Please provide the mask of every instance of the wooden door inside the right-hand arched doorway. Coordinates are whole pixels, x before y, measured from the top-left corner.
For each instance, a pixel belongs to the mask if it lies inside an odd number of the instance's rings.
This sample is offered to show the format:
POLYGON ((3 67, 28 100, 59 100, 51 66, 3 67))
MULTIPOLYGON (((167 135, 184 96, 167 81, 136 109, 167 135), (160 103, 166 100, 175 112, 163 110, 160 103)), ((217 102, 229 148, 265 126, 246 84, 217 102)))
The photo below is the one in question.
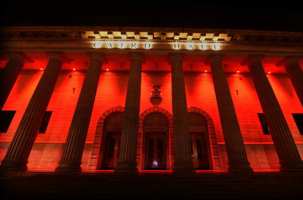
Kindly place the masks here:
POLYGON ((194 166, 199 169, 208 169, 208 157, 204 133, 191 133, 191 158, 194 166))

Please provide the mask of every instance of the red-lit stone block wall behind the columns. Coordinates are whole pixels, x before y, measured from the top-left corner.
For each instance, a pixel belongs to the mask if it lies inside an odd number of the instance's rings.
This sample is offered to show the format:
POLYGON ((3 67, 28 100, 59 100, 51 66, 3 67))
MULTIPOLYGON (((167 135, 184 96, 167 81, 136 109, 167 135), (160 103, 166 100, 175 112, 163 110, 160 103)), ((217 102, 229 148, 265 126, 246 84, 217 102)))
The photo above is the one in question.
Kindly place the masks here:
MULTIPOLYGON (((42 71, 22 71, 3 110, 16 110, 7 133, 0 133, 0 159, 2 160, 9 143, 25 112, 26 106, 42 75, 42 71)), ((64 148, 73 112, 84 80, 84 71, 61 71, 47 110, 53 111, 46 133, 38 133, 35 145, 28 159, 29 168, 55 169, 64 148), (71 78, 68 76, 72 75, 71 78), (73 92, 75 88, 75 92, 73 92)), ((302 106, 288 79, 287 74, 268 74, 282 111, 303 155, 303 136, 298 132, 291 113, 303 113, 302 106)), ((257 116, 262 112, 250 74, 227 74, 231 96, 235 105, 248 159, 253 169, 278 168, 278 157, 271 136, 264 135, 257 116), (236 92, 238 90, 238 94, 236 92)), ((88 168, 96 125, 101 114, 114 106, 125 104, 128 72, 102 71, 92 118, 87 134, 82 168, 88 168)), ((163 90, 159 106, 172 113, 170 72, 142 72, 140 113, 153 105, 149 90, 158 85, 163 90)), ((220 125, 214 86, 210 73, 185 73, 187 105, 204 109, 213 119, 219 145, 221 169, 227 167, 227 155, 220 125)))

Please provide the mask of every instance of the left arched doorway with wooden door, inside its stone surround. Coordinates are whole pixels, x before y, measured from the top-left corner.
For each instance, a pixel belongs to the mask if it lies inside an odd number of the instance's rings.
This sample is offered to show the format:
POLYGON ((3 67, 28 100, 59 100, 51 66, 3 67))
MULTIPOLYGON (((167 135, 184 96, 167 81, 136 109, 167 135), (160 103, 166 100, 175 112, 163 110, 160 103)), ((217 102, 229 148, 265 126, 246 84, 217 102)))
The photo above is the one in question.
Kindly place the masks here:
POLYGON ((123 112, 112 112, 103 124, 97 169, 114 169, 119 158, 123 112))

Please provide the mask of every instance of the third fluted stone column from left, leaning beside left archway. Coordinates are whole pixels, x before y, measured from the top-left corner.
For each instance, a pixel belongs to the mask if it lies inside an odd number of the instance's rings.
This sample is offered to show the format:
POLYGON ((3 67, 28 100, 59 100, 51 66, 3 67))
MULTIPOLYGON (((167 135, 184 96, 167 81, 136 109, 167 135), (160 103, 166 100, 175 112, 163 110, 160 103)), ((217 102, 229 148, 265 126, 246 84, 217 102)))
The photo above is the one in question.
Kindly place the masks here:
POLYGON ((80 172, 82 154, 95 102, 101 67, 107 63, 102 54, 92 54, 68 131, 62 158, 55 172, 80 172))

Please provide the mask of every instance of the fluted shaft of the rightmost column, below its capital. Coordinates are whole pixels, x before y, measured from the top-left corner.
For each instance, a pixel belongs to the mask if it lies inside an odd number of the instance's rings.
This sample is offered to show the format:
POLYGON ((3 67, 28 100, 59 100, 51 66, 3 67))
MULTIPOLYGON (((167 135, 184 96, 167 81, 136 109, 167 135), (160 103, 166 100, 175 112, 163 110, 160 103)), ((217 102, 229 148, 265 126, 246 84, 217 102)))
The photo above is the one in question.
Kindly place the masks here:
POLYGON ((298 60, 288 62, 285 65, 285 70, 298 95, 301 105, 303 106, 303 71, 298 63, 298 60))

